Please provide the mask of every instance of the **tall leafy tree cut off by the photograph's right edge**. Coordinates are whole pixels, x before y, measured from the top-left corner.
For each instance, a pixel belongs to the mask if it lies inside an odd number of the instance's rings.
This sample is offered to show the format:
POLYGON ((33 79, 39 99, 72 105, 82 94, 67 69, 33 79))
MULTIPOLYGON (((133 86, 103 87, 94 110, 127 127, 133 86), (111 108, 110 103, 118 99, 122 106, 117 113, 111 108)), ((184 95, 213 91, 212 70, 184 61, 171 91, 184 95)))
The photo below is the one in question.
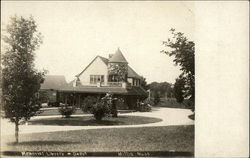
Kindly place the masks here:
POLYGON ((194 110, 194 98, 195 98, 195 69, 194 69, 194 55, 195 44, 193 41, 187 39, 181 32, 175 32, 175 29, 170 30, 173 37, 167 41, 163 41, 163 44, 170 48, 170 50, 162 50, 161 52, 174 57, 174 63, 179 65, 182 70, 180 78, 185 81, 185 89, 183 92, 184 98, 189 98, 193 103, 192 109, 194 110))

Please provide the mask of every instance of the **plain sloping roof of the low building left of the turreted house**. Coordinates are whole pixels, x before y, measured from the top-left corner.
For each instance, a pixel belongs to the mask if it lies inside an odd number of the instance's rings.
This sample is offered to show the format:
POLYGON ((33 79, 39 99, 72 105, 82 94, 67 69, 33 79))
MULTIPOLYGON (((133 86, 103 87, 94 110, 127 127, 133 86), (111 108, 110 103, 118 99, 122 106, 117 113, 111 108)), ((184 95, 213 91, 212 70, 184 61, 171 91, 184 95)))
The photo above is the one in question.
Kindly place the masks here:
POLYGON ((59 90, 67 86, 66 79, 63 75, 46 75, 44 82, 41 84, 41 90, 54 89, 59 90))

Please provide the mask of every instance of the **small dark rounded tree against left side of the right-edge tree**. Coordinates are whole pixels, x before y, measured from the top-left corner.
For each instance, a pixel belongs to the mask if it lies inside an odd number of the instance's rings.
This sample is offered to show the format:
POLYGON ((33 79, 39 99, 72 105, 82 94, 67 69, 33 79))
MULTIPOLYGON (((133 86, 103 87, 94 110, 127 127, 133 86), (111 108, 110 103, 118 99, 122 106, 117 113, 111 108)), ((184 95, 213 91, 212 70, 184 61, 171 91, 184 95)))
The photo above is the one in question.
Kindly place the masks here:
POLYGON ((184 78, 182 77, 177 78, 174 84, 174 96, 178 103, 182 103, 184 100, 183 97, 184 86, 185 86, 184 78))

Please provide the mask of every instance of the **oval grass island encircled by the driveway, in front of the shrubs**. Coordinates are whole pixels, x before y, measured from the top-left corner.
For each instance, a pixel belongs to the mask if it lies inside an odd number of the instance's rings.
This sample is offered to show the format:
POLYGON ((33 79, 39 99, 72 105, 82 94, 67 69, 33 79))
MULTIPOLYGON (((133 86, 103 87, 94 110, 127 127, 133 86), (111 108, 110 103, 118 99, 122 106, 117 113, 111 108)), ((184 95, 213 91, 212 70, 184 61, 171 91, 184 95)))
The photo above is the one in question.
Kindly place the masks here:
POLYGON ((31 125, 59 125, 59 126, 106 126, 106 125, 136 125, 160 122, 161 119, 142 116, 118 116, 104 117, 97 121, 93 116, 81 116, 71 118, 46 118, 29 121, 31 125))

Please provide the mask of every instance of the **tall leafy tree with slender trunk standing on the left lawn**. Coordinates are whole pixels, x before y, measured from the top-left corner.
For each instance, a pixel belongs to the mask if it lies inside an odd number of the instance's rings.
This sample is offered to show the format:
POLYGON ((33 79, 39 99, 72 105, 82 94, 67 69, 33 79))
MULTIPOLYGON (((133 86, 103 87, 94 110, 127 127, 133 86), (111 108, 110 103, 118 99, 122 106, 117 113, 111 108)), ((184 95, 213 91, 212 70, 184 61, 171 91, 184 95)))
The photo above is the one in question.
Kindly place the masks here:
POLYGON ((34 51, 42 43, 41 34, 33 17, 11 17, 3 41, 6 44, 2 58, 3 109, 5 117, 15 123, 18 143, 19 123, 39 112, 38 99, 44 73, 34 68, 34 51))

